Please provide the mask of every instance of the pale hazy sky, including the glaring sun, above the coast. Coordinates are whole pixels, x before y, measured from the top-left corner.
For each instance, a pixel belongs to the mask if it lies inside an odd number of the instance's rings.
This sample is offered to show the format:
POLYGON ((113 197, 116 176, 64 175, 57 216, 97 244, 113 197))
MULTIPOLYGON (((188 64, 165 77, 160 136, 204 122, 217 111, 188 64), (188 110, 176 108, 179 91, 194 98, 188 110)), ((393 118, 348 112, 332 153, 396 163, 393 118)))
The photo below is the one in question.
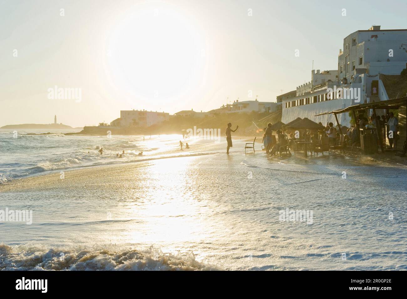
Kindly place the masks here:
POLYGON ((350 33, 406 29, 406 11, 404 0, 0 0, 0 126, 275 102, 312 66, 336 70, 350 33))

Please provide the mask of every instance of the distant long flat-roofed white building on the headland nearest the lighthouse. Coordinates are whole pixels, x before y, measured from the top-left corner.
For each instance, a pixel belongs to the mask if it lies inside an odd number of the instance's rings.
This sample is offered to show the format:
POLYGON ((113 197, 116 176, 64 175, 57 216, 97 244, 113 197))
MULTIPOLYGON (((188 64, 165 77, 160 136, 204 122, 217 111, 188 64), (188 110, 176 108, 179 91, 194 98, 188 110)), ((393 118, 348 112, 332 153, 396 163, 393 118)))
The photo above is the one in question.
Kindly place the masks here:
POLYGON ((169 113, 147 110, 120 110, 120 118, 110 124, 114 127, 150 127, 169 119, 169 113))

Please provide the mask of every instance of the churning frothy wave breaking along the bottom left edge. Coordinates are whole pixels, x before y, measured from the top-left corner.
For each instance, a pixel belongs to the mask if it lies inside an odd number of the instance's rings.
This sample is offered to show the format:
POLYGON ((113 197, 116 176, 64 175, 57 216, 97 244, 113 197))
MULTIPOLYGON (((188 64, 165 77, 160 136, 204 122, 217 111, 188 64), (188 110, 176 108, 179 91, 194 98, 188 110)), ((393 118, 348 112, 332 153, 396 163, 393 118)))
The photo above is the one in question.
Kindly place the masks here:
POLYGON ((195 260, 193 253, 136 249, 39 248, 0 244, 0 270, 17 271, 208 271, 221 270, 195 260))

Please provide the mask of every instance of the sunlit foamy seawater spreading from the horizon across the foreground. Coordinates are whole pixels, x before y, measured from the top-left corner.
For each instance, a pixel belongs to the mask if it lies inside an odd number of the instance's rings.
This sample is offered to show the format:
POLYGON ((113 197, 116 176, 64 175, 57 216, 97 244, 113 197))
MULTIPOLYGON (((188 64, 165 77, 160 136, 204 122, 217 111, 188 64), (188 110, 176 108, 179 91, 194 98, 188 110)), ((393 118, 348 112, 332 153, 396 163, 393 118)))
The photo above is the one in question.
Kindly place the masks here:
POLYGON ((400 157, 43 133, 0 130, 1 270, 407 269, 400 157), (60 183, 5 188, 30 177, 60 183), (32 223, 2 220, 6 209, 32 223))

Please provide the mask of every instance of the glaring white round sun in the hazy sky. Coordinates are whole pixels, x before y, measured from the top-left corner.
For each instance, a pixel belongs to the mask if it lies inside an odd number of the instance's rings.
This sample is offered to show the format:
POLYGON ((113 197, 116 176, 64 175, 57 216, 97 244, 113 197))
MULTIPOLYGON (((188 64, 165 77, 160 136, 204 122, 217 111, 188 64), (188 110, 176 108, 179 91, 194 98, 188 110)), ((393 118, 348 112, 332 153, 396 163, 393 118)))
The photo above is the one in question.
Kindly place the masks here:
POLYGON ((193 15, 170 4, 142 4, 118 21, 107 65, 114 85, 142 100, 169 104, 197 88, 206 63, 193 15))

